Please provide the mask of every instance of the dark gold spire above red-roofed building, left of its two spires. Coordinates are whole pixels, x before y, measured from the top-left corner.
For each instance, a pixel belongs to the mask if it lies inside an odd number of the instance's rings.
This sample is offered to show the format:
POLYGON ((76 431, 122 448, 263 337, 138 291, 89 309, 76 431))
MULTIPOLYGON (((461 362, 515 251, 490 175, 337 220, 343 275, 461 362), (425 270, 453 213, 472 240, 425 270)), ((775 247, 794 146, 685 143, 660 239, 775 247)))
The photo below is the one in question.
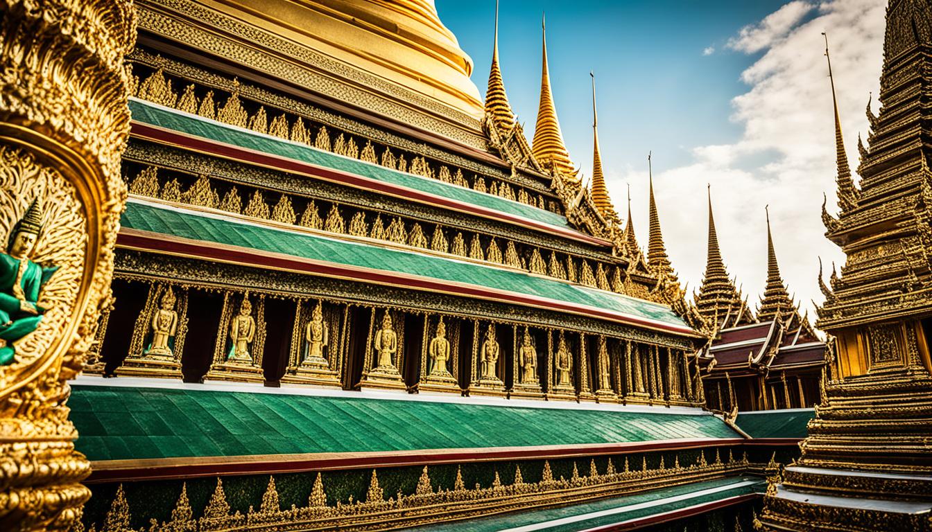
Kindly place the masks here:
POLYGON ((702 280, 699 293, 695 295, 695 304, 699 313, 715 329, 725 329, 747 323, 753 323, 747 303, 734 287, 725 270, 725 263, 719 251, 719 236, 715 232, 715 218, 712 216, 712 193, 708 196, 708 254, 706 255, 706 274, 702 280))

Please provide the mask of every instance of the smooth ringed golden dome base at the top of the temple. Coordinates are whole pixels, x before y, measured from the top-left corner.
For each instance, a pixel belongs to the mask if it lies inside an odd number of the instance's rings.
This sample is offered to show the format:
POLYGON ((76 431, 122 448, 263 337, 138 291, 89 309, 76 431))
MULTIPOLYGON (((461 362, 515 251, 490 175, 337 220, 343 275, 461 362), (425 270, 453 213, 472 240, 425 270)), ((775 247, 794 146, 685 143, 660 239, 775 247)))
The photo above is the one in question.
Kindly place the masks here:
POLYGON ((469 78, 473 60, 440 21, 433 0, 216 1, 227 14, 234 7, 239 18, 337 61, 474 118, 484 115, 469 78))

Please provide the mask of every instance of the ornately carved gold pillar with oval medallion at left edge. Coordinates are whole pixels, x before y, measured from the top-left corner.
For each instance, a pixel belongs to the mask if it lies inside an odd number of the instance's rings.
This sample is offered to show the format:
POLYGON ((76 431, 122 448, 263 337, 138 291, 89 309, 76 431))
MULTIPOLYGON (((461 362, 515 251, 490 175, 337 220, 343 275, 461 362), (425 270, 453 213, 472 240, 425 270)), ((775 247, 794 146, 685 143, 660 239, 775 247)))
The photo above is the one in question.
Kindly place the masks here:
POLYGON ((0 348, 3 530, 68 529, 90 496, 66 381, 110 303, 135 35, 126 0, 0 4, 0 239, 31 235, 3 252, 42 274, 37 295, 7 293, 31 312, 0 348))

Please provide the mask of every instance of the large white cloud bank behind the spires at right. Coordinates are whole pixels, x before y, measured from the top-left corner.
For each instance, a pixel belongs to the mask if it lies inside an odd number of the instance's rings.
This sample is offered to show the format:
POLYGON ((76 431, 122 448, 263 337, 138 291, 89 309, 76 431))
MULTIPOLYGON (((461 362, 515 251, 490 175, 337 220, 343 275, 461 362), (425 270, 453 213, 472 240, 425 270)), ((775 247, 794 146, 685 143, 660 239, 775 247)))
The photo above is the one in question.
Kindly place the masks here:
MULTIPOLYGON (((801 3, 781 7, 755 28, 776 28, 774 16, 797 4, 801 3)), ((769 43, 766 51, 742 75, 747 92, 733 99, 732 119, 743 125, 742 137, 732 144, 696 146, 692 164, 671 170, 661 170, 663 156, 654 154, 654 193, 667 251, 691 292, 698 288, 706 266, 709 183, 721 251, 748 301, 757 304, 766 280, 764 205, 768 204, 780 272, 790 293, 803 307, 811 308, 811 299, 821 301, 817 257, 827 268, 832 261, 843 264, 843 253, 823 236, 820 217, 823 191, 829 195, 829 206, 834 206, 836 174, 821 32, 829 34, 845 146, 856 168, 857 133, 868 128, 864 105, 869 91, 878 93, 885 6, 884 0, 835 0, 819 6, 816 18, 804 23, 799 15, 781 15, 781 20, 795 23, 772 31, 771 35, 780 35, 777 38, 761 37, 759 42, 769 43)), ((742 30, 738 38, 749 43, 752 33, 742 30)), ((743 46, 748 52, 756 49, 743 46)), ((610 173, 613 197, 624 198, 625 181, 646 183, 647 172, 640 170, 642 165, 637 168, 621 172, 617 179, 610 173)), ((635 206, 647 205, 646 189, 643 185, 633 189, 635 206)), ((638 237, 646 247, 647 213, 636 209, 636 215, 638 237)))

